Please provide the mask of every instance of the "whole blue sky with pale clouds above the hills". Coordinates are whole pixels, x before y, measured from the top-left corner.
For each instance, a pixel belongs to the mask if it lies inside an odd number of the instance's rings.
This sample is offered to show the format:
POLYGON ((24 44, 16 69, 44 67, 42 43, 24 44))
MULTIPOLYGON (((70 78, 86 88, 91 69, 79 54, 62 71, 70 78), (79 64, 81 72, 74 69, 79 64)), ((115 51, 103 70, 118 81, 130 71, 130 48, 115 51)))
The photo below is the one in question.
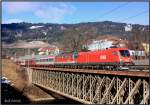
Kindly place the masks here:
POLYGON ((148 2, 2 2, 2 23, 149 24, 148 2))

